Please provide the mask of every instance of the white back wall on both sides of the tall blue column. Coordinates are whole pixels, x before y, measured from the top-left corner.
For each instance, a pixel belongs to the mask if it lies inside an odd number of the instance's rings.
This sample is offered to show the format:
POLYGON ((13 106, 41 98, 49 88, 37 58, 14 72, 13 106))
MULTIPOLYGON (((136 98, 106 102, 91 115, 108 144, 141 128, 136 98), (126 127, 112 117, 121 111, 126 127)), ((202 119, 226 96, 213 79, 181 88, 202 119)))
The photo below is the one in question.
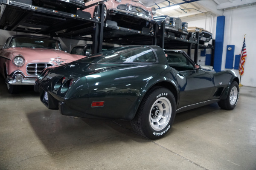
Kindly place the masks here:
MULTIPOLYGON (((221 70, 227 70, 225 69, 227 45, 235 45, 235 55, 239 55, 244 34, 246 34, 247 57, 244 64, 244 74, 241 76, 241 84, 256 87, 256 76, 254 75, 256 73, 256 5, 227 9, 223 11, 223 15, 225 16, 225 31, 221 70)), ((197 26, 212 31, 214 39, 216 19, 217 16, 212 17, 210 14, 181 18, 182 22, 187 22, 189 26, 197 26)), ((207 50, 207 54, 210 54, 209 50, 207 50)), ((198 62, 199 64, 204 65, 204 57, 198 57, 198 60, 201 60, 198 62)), ((239 71, 234 71, 239 76, 239 71)))

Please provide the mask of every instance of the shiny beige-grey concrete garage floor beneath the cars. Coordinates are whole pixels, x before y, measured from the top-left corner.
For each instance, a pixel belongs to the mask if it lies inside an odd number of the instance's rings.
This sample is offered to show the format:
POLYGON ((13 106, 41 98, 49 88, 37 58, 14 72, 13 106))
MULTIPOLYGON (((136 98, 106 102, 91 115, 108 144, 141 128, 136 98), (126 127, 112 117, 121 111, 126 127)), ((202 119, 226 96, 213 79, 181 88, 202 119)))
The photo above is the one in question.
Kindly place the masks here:
POLYGON ((217 104, 176 115, 158 140, 130 122, 74 119, 48 110, 38 93, 7 93, 0 77, 0 170, 256 170, 256 88, 237 107, 217 104))

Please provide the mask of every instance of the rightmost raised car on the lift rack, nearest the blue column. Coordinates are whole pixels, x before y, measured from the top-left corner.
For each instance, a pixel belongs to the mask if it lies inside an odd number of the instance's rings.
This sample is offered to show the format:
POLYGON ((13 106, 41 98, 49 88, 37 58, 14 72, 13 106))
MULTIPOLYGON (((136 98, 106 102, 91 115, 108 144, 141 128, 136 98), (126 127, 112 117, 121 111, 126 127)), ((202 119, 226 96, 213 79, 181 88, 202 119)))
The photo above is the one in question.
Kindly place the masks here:
POLYGON ((204 28, 188 27, 188 32, 191 33, 192 38, 196 38, 196 32, 199 33, 199 44, 204 45, 205 42, 212 40, 212 33, 205 30, 204 28))

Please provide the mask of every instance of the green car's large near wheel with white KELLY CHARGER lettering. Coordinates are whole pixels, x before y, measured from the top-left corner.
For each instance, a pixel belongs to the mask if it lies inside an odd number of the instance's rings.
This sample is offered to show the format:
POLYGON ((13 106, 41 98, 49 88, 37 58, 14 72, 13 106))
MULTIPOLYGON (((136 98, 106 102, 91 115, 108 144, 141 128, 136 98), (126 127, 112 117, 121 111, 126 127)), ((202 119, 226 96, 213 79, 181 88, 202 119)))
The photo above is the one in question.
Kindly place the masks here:
POLYGON ((131 126, 136 133, 148 139, 159 139, 172 127, 175 111, 172 92, 166 88, 155 87, 145 95, 131 126))

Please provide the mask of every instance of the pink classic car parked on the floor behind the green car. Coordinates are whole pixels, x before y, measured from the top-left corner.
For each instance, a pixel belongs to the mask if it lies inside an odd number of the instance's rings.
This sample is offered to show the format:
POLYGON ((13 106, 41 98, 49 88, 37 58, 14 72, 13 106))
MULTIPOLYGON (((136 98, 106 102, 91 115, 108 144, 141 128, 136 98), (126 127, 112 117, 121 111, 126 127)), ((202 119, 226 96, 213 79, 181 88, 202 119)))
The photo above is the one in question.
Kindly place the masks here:
POLYGON ((34 85, 35 78, 44 68, 84 57, 61 50, 60 42, 52 38, 29 35, 9 37, 0 51, 0 73, 9 93, 17 93, 19 85, 34 85))

